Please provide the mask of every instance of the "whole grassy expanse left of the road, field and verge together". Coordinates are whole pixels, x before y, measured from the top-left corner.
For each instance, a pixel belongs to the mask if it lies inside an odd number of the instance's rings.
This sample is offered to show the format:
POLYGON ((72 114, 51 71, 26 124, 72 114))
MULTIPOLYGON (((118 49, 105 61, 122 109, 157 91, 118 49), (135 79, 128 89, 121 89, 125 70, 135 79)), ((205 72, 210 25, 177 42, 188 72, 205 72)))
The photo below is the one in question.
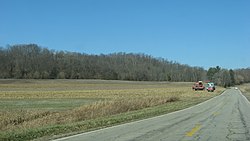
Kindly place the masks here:
POLYGON ((192 83, 0 80, 0 140, 49 140, 187 108, 222 93, 192 83))

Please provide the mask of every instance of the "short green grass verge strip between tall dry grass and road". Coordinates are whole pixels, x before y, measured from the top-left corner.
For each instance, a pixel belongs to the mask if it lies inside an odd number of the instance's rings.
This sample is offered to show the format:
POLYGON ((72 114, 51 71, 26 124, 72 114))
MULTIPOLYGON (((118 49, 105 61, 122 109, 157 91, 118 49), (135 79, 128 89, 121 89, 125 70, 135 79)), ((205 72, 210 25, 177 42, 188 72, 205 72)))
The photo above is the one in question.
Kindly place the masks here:
POLYGON ((137 111, 130 111, 126 113, 105 116, 96 119, 89 119, 85 121, 68 123, 65 125, 54 125, 42 128, 32 128, 19 132, 0 133, 0 140, 6 141, 23 141, 23 140, 50 140, 52 138, 59 138, 63 136, 78 134, 86 131, 110 127, 121 123, 131 122, 135 120, 145 119, 161 114, 170 113, 173 111, 181 110, 193 105, 196 105, 203 100, 192 102, 176 101, 166 103, 160 106, 149 107, 137 111))

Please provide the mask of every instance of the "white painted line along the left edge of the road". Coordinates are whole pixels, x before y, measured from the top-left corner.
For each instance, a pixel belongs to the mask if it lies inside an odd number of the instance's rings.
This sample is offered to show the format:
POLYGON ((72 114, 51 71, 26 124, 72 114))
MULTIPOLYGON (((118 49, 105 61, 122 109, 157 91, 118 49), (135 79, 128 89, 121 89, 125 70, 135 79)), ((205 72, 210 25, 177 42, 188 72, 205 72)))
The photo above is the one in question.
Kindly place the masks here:
MULTIPOLYGON (((226 91, 226 90, 225 90, 226 91)), ((200 106, 200 105, 203 105, 217 97, 220 97, 222 95, 225 94, 225 91, 222 92, 222 94, 218 95, 218 96, 215 96, 211 99, 208 99, 202 103, 199 103, 197 105, 194 105, 192 107, 188 107, 188 108, 185 108, 185 109, 182 109, 182 110, 179 110, 179 111, 174 111, 174 112, 171 112, 171 113, 168 113, 168 114, 164 114, 164 115, 160 115, 160 116, 156 116, 156 117, 151 117, 151 118, 147 118, 147 119, 142 119, 142 120, 138 120, 138 121, 133 121, 133 122, 128 122, 128 123, 124 123, 124 124, 119 124, 119 125, 115 125, 115 126, 111 126, 111 127, 106 127, 106 128, 102 128, 102 129, 98 129, 98 130, 93 130, 93 131, 89 131, 89 132, 84 132, 84 133, 80 133, 80 134, 76 134, 76 135, 72 135, 72 136, 68 136, 68 137, 63 137, 63 138, 59 138, 59 139, 55 139, 55 140, 52 140, 52 141, 62 141, 62 140, 66 140, 66 139, 69 139, 69 138, 73 138, 73 137, 78 137, 78 136, 81 136, 81 135, 84 135, 84 134, 91 134, 91 133, 94 133, 94 132, 99 132, 99 131, 102 131, 102 130, 106 130, 106 129, 112 129, 112 128, 116 128, 116 127, 119 127, 119 126, 123 126, 123 125, 127 125, 127 124, 133 124, 133 123, 138 123, 138 122, 142 122, 142 121, 146 121, 146 120, 151 120, 151 119, 154 119, 154 118, 159 118, 159 117, 163 117, 163 116, 166 116, 166 115, 172 115, 172 114, 175 114, 175 113, 179 113, 179 112, 183 112, 183 111, 186 111, 186 110, 189 110, 189 109, 192 109, 194 107, 197 107, 197 106, 200 106)), ((245 97, 245 96, 244 96, 245 97)), ((246 97, 245 97, 246 98, 246 97)), ((248 101, 249 102, 249 101, 248 101)))

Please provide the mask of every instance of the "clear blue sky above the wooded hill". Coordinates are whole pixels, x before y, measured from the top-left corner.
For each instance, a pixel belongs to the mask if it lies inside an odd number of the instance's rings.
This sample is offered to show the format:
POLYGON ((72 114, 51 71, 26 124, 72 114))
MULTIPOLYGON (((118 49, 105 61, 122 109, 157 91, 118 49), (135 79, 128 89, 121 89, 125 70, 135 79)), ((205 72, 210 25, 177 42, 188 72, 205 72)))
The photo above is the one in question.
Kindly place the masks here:
POLYGON ((0 0, 0 46, 250 67, 250 0, 0 0))

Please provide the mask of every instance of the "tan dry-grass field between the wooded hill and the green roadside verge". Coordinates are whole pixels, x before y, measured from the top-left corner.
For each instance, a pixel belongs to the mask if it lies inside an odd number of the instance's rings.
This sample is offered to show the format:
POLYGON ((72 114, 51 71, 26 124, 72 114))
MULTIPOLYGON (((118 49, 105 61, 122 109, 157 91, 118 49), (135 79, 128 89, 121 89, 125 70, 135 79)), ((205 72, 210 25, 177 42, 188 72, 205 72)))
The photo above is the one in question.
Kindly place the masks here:
POLYGON ((223 91, 196 92, 191 86, 168 82, 0 80, 0 131, 64 125, 176 101, 197 103, 223 91))

